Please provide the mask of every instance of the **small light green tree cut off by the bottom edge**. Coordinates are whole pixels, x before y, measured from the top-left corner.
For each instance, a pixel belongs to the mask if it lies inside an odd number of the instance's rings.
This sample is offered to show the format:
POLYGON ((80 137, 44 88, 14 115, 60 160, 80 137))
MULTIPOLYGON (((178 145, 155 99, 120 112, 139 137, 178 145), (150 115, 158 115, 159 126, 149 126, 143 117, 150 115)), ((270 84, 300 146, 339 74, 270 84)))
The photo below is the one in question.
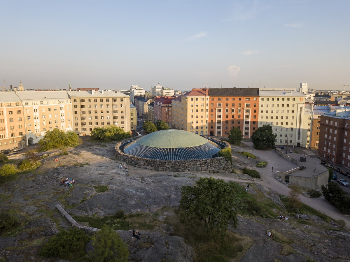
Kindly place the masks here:
POLYGON ((93 261, 127 262, 129 250, 126 243, 109 226, 102 226, 93 236, 93 251, 89 254, 93 261))

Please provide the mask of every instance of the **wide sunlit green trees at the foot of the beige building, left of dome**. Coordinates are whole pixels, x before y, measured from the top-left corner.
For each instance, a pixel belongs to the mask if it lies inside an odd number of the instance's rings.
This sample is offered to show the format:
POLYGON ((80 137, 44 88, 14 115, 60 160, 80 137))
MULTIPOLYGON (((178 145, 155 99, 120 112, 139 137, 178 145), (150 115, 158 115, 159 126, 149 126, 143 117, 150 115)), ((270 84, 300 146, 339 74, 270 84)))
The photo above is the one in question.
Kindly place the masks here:
POLYGON ((91 131, 91 138, 97 140, 108 141, 121 141, 131 137, 130 131, 125 132, 122 128, 118 126, 110 127, 95 127, 91 131))

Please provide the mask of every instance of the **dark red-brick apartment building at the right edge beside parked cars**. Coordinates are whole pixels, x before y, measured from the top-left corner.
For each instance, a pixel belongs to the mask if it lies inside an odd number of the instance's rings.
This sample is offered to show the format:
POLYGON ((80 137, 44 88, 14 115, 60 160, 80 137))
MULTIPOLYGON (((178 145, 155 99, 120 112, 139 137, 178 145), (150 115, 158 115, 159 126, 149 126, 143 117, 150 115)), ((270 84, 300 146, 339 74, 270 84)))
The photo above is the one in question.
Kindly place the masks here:
POLYGON ((320 119, 318 156, 350 168, 350 110, 337 109, 320 119))

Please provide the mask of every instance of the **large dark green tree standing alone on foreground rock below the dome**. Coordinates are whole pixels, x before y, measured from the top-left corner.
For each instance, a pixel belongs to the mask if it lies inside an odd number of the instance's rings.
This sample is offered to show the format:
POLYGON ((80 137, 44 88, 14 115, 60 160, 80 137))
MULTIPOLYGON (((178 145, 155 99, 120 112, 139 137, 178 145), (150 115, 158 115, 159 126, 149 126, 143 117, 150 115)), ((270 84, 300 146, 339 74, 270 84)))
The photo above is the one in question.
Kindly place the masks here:
POLYGON ((229 225, 237 227, 234 189, 233 184, 212 177, 200 178, 195 186, 182 186, 179 206, 182 220, 194 225, 201 221, 210 239, 223 239, 229 225))

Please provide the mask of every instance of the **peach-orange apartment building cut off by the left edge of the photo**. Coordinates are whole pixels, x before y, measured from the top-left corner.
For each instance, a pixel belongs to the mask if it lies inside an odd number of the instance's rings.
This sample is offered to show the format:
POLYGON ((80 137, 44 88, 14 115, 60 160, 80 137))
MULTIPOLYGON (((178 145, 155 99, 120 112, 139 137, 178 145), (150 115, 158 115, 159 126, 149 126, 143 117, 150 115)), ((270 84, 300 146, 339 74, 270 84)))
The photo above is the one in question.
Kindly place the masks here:
POLYGON ((0 150, 26 146, 22 101, 15 92, 0 92, 0 150))

